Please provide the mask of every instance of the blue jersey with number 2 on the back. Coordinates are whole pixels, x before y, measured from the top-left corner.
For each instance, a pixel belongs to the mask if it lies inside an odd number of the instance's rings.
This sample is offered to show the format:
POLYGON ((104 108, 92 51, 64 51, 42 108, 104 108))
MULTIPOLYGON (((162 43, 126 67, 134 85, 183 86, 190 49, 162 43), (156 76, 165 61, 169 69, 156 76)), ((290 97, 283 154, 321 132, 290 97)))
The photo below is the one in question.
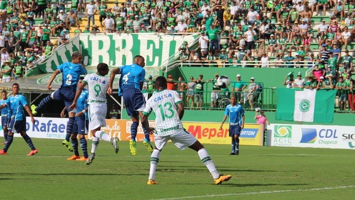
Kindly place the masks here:
POLYGON ((63 73, 63 81, 61 87, 77 88, 80 75, 87 73, 86 69, 81 64, 63 63, 57 67, 63 73))

